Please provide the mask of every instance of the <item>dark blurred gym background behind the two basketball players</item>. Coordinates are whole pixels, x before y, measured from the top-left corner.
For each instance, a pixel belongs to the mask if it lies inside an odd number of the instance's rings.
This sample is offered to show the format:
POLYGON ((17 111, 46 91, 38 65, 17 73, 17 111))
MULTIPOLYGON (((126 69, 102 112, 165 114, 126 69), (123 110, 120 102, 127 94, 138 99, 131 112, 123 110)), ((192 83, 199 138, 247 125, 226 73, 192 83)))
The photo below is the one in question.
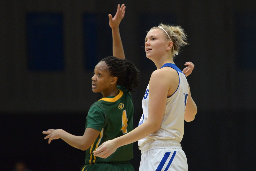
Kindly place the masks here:
MULTIPOLYGON (((160 22, 181 25, 190 45, 175 63, 181 69, 186 61, 195 64, 188 81, 198 107, 181 142, 189 170, 255 170, 256 6, 238 0, 0 1, 0 170, 18 161, 31 170, 81 169, 83 151, 61 140, 49 145, 41 132, 83 134, 88 109, 101 98, 91 91, 91 68, 112 55, 108 14, 122 3, 125 55, 141 70, 140 89, 132 94, 134 126, 156 69, 145 57, 146 31, 160 22), (40 24, 49 27, 37 30, 40 24), (54 48, 37 49, 48 45, 54 48)), ((140 155, 134 143, 135 170, 140 155)))

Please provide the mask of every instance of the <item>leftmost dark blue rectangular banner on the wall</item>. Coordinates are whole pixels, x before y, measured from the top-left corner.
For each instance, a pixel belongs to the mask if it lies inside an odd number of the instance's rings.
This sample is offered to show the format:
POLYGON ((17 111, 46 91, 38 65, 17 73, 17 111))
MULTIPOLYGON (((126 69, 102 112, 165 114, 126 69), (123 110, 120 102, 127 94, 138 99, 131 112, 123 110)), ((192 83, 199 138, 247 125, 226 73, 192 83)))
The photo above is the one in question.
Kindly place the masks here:
POLYGON ((62 14, 27 14, 27 50, 30 70, 64 69, 62 14))

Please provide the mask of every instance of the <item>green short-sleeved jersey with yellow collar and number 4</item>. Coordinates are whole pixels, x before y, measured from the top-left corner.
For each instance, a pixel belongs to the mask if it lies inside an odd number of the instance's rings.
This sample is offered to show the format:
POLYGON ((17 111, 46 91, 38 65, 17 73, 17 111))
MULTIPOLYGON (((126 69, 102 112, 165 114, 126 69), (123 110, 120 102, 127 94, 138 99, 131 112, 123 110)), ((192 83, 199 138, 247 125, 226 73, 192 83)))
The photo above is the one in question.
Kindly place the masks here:
POLYGON ((133 130, 134 107, 130 92, 118 86, 119 94, 115 97, 102 98, 92 104, 89 109, 86 128, 90 127, 100 131, 99 136, 89 149, 86 150, 85 164, 99 162, 122 163, 133 158, 133 144, 119 147, 107 158, 95 157, 93 151, 103 142, 133 130))

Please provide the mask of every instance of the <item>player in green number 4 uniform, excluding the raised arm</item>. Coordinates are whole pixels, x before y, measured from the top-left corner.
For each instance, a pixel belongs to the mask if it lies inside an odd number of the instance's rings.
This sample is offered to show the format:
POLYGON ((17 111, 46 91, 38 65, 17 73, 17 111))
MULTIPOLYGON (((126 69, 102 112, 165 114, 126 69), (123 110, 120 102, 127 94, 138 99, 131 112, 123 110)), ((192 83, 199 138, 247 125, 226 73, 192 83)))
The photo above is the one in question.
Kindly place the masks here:
POLYGON ((45 139, 61 138, 69 145, 86 150, 82 171, 89 170, 134 170, 129 160, 133 157, 132 144, 118 148, 110 157, 95 157, 95 151, 103 142, 122 136, 133 130, 134 107, 130 91, 138 88, 140 73, 127 59, 106 57, 94 69, 92 91, 101 92, 103 98, 93 103, 86 119, 82 136, 72 135, 62 129, 43 131, 45 139))

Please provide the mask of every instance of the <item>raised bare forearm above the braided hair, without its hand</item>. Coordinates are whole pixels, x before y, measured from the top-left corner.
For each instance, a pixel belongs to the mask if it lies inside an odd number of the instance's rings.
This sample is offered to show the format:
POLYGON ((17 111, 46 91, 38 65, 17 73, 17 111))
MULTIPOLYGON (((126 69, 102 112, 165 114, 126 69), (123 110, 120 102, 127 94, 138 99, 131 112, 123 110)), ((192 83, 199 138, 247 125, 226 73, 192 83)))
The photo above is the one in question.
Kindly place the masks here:
POLYGON ((112 28, 112 39, 113 39, 113 56, 119 59, 125 59, 119 28, 112 28))

